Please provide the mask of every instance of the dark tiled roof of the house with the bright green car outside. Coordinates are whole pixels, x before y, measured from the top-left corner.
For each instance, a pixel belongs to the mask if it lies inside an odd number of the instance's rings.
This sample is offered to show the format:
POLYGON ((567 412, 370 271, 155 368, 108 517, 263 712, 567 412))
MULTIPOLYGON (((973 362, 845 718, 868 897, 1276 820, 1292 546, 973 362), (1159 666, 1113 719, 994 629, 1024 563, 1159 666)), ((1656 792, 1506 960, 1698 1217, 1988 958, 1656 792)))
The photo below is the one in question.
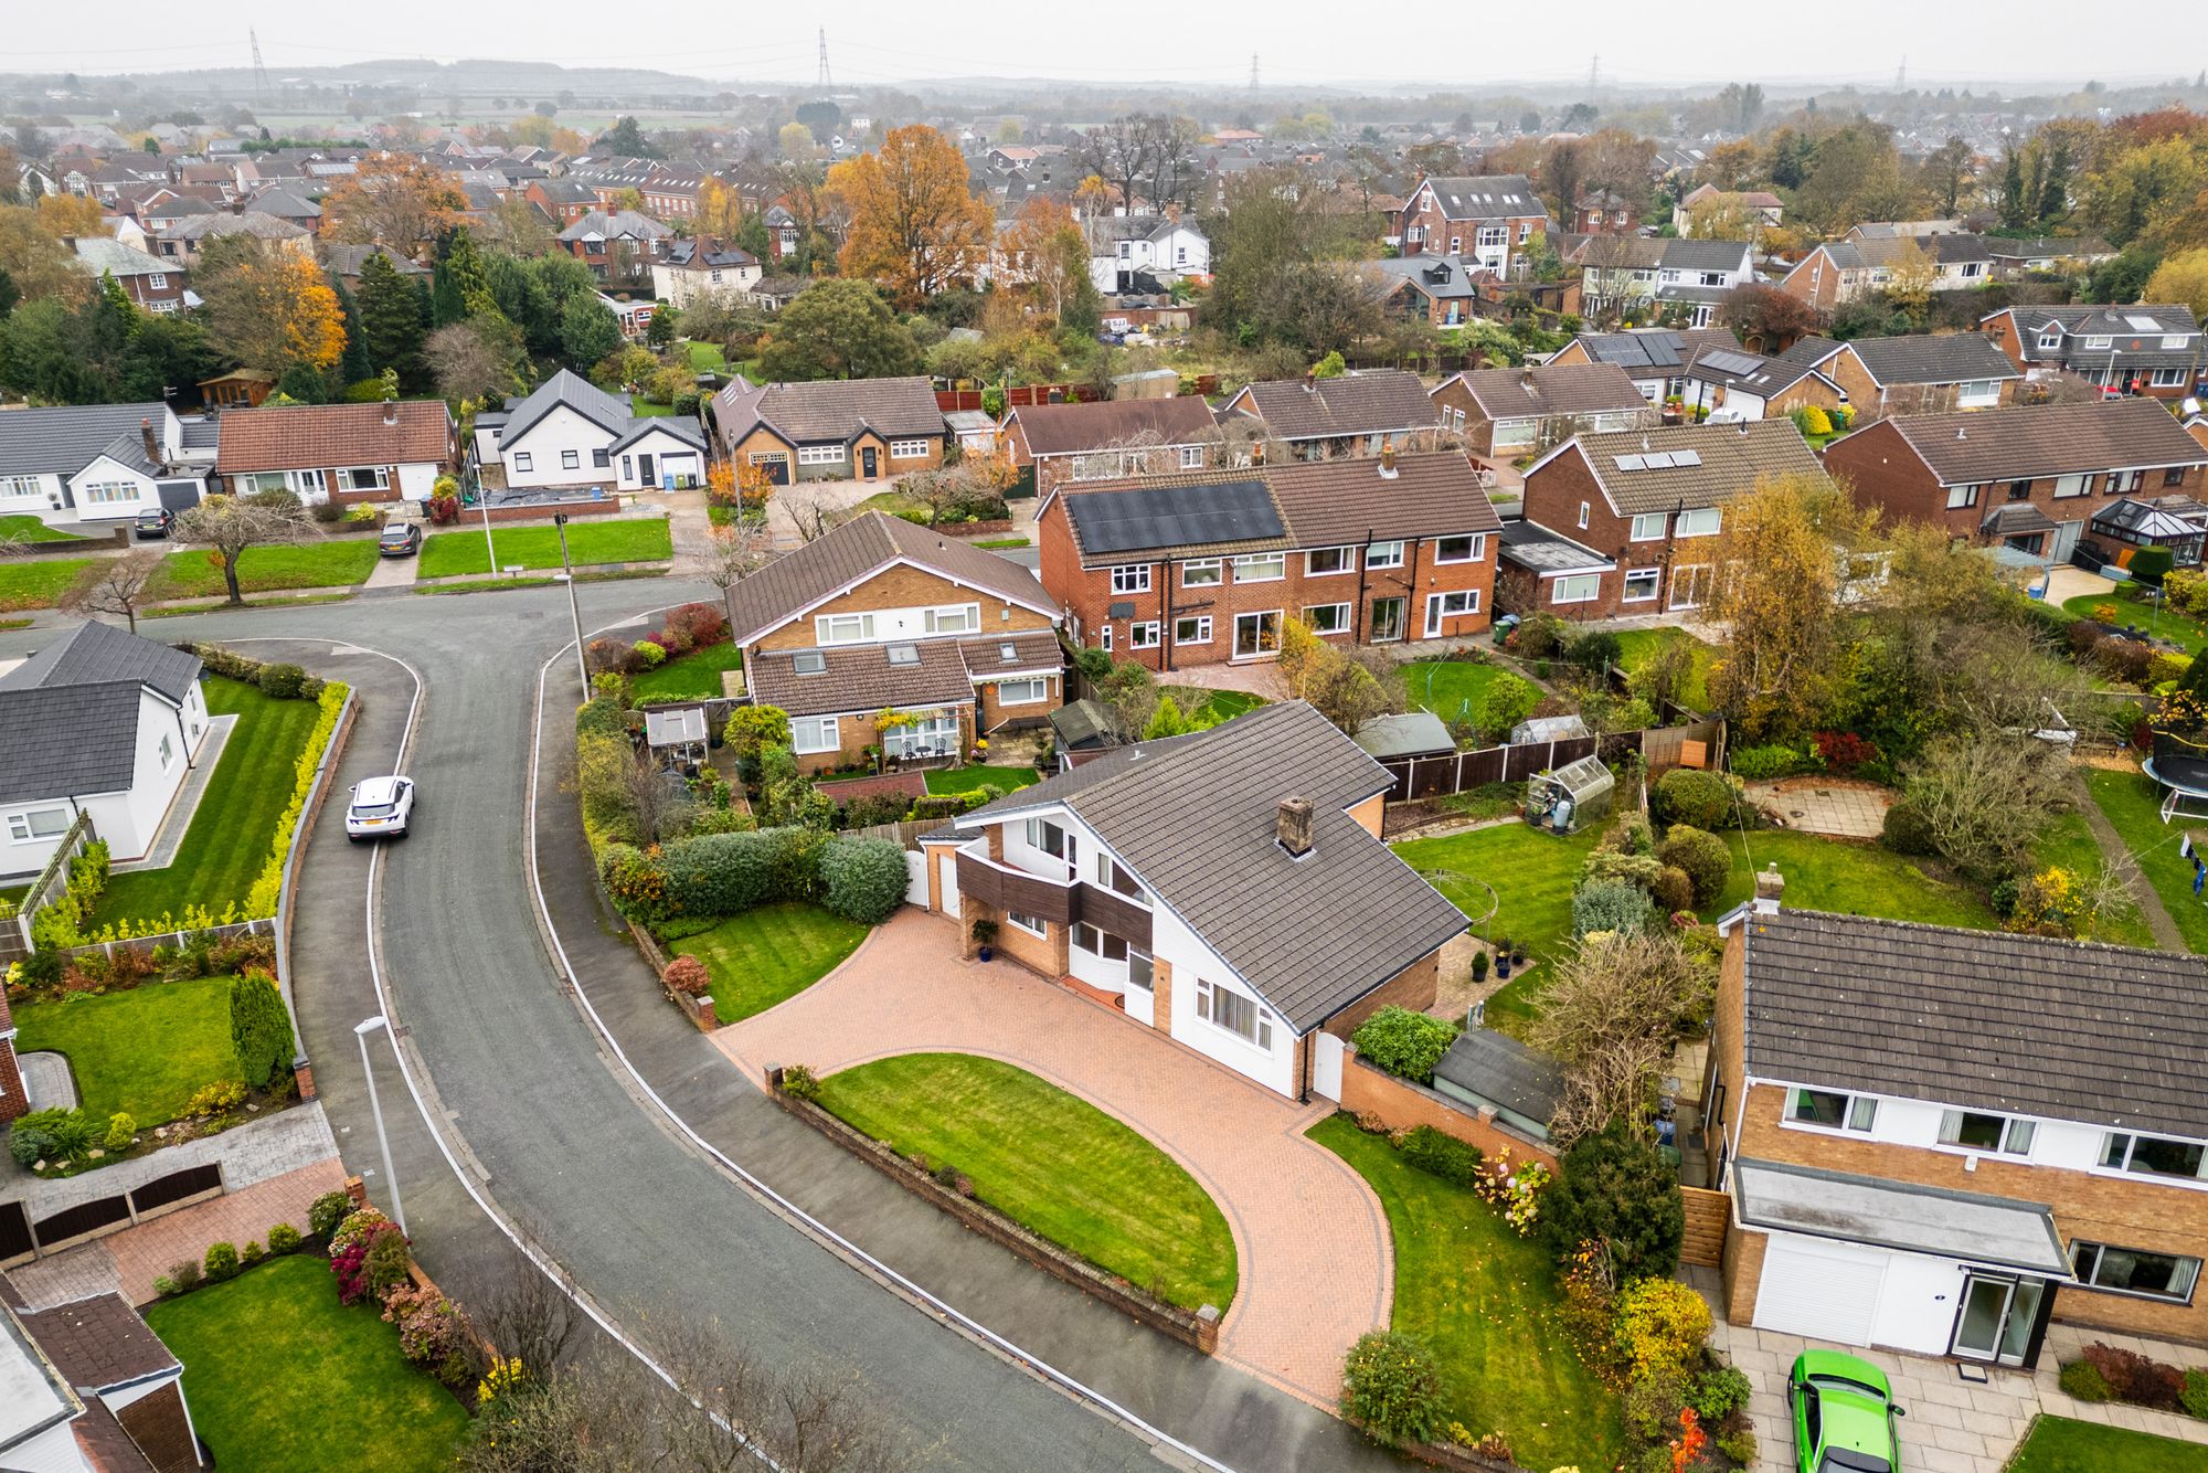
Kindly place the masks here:
POLYGON ((1747 1071, 2208 1137, 2208 961, 1811 910, 1749 914, 1747 1071))

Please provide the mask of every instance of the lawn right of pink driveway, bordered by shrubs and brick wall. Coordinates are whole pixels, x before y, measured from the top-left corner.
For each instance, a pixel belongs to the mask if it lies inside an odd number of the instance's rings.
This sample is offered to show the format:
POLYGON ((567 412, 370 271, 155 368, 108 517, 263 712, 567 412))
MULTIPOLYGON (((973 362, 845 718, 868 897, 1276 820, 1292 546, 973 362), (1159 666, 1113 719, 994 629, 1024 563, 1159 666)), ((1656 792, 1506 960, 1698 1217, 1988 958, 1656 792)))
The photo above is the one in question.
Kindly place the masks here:
POLYGON ((1406 1166, 1347 1115, 1312 1140, 1349 1162, 1395 1237, 1393 1329, 1422 1336, 1442 1371, 1444 1416, 1499 1431, 1528 1469, 1607 1469, 1623 1453, 1618 1402, 1559 1327, 1554 1268, 1477 1193, 1406 1166))

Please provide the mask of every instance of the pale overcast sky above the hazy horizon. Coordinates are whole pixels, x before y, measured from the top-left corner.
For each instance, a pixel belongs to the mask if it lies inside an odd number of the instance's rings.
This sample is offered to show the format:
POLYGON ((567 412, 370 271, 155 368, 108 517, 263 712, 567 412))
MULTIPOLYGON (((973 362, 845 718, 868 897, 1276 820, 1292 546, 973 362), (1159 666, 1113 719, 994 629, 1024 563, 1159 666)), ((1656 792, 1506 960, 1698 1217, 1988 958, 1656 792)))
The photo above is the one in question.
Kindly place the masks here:
MULTIPOLYGON (((367 9, 121 0, 99 7, 97 27, 71 4, 0 0, 0 68, 79 73, 243 66, 247 24, 261 29, 272 75, 417 53, 442 62, 468 55, 660 66, 737 86, 810 82, 815 24, 828 27, 839 86, 1055 75, 1239 88, 1248 86, 1252 51, 1272 86, 1395 80, 1479 91, 1583 80, 1594 53, 1603 53, 1601 75, 1625 86, 1735 77, 1886 86, 1903 57, 1910 82, 1923 86, 2162 80, 2208 64, 2208 44, 2186 44, 2184 55, 2142 46, 2146 33, 2166 42, 2177 11, 2135 11, 2137 29, 2120 22, 2122 11, 2080 24, 2080 11, 2056 0, 2011 0, 1996 9, 1855 0, 1822 11, 1762 11, 1769 24, 1755 20, 1755 7, 1682 9, 1656 0, 1581 0, 1546 18, 1539 7, 1446 0, 1384 11, 1338 0, 1259 0, 1122 18, 1082 4, 912 0, 775 7, 764 18, 735 4, 627 11, 598 0, 534 0, 528 9, 450 0, 378 0, 367 9), (2146 71, 2142 57, 2153 57, 2146 71)), ((2184 24, 2175 33, 2197 35, 2184 24)))

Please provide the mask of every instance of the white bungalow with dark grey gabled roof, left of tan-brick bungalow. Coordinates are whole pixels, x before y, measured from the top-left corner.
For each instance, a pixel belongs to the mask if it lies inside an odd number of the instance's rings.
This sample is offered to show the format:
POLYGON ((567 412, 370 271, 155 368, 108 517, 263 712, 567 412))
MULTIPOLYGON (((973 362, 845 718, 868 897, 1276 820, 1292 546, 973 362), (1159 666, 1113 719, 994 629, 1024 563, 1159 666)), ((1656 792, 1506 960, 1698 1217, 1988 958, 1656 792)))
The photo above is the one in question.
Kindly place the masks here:
POLYGON ((682 415, 636 415, 627 395, 605 393, 561 369, 503 420, 477 415, 477 453, 497 455, 508 490, 598 486, 684 490, 704 486, 704 428, 682 415), (490 435, 490 446, 484 446, 490 435))

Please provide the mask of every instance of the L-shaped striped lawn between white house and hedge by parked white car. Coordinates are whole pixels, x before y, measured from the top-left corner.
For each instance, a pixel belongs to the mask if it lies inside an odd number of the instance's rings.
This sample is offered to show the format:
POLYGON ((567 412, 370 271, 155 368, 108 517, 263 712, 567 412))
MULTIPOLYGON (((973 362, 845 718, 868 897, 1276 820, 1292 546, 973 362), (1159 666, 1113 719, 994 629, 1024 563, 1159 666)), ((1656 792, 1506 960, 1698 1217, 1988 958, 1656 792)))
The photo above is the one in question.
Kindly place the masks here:
POLYGON ((311 700, 269 700, 241 680, 212 676, 208 711, 236 713, 223 757, 208 780, 192 826, 174 863, 163 870, 110 875, 86 930, 108 921, 157 921, 181 916, 185 905, 205 905, 214 916, 245 897, 276 846, 276 824, 291 802, 298 755, 318 716, 311 700))

